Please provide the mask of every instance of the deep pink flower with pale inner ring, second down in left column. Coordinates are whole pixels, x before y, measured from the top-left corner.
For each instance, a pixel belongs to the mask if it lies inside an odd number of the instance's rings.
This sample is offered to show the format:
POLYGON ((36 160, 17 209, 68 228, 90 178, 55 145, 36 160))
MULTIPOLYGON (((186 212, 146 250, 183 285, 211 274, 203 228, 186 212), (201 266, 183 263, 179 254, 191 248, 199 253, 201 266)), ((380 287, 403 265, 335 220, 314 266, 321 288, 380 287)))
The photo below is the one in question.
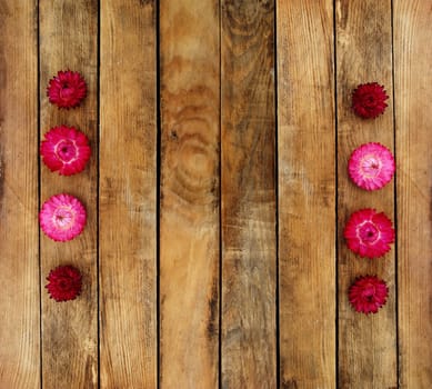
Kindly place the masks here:
POLYGON ((74 127, 54 127, 41 142, 40 153, 44 164, 59 174, 71 176, 86 168, 90 158, 89 139, 74 127))

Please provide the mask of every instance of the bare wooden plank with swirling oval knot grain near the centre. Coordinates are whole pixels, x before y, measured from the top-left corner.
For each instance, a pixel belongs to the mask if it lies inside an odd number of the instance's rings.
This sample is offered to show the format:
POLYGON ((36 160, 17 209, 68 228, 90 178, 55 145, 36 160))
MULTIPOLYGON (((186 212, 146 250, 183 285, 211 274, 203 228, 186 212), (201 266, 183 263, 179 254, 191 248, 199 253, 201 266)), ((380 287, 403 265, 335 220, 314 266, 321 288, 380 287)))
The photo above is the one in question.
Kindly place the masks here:
POLYGON ((160 2, 160 385, 217 388, 219 1, 160 2))

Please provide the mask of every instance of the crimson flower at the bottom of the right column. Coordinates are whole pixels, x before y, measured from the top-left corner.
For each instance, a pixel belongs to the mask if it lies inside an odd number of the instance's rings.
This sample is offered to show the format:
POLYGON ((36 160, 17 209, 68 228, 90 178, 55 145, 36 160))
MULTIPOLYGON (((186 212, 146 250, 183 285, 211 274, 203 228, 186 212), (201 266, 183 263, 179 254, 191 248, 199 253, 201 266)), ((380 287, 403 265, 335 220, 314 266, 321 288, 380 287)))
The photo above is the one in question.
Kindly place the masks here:
POLYGON ((350 287, 349 299, 358 312, 376 313, 389 296, 389 288, 383 280, 374 276, 359 277, 350 287))

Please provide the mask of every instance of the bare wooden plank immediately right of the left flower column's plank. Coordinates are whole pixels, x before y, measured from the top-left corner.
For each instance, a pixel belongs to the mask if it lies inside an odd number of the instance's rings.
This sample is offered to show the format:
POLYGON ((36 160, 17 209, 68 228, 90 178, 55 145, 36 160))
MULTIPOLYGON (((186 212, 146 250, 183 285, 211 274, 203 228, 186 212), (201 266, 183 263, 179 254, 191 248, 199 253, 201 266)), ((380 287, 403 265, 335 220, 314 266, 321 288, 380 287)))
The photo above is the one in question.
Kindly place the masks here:
POLYGON ((155 1, 101 3, 101 388, 158 381, 155 53, 155 1))

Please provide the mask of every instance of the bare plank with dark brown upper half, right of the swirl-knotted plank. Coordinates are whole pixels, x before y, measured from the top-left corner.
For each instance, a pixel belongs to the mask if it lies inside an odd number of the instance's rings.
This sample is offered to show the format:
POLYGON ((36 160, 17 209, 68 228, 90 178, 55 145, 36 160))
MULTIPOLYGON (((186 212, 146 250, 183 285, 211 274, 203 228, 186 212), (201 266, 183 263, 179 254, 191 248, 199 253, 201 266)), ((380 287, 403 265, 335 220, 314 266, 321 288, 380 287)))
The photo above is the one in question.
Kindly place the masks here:
POLYGON ((274 4, 222 1, 222 388, 274 388, 274 4))

